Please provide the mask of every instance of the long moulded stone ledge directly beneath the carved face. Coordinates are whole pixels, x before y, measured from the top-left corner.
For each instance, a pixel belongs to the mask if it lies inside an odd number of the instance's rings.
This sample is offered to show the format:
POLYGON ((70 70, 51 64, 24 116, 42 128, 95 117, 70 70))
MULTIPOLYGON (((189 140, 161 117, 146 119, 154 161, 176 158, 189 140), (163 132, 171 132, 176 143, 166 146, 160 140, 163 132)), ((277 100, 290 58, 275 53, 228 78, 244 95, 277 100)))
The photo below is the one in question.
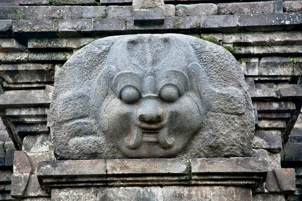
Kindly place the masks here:
POLYGON ((258 186, 268 172, 264 157, 109 159, 39 162, 42 188, 71 186, 258 186), (83 168, 83 166, 87 168, 83 168), (192 170, 191 170, 192 168, 192 170), (192 175, 192 177, 191 177, 192 175))

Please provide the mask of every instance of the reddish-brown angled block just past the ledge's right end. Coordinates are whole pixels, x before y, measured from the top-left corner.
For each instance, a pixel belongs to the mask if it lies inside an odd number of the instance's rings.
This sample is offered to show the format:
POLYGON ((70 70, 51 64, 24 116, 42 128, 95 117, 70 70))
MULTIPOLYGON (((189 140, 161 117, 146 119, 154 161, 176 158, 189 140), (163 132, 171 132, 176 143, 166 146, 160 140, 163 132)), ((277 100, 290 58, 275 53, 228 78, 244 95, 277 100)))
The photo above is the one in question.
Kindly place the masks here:
POLYGON ((295 171, 293 168, 273 169, 267 173, 264 185, 269 192, 293 193, 295 191, 295 171))

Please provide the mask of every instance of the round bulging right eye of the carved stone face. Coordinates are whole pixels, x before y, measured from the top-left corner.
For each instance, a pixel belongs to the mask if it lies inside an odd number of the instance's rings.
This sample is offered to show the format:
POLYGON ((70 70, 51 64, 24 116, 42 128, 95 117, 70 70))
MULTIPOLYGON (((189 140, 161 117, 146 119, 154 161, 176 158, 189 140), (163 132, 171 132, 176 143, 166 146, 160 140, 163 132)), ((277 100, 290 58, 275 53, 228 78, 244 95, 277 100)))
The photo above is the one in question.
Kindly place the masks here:
POLYGON ((175 84, 165 84, 160 91, 160 97, 168 103, 175 102, 180 97, 180 90, 175 84))

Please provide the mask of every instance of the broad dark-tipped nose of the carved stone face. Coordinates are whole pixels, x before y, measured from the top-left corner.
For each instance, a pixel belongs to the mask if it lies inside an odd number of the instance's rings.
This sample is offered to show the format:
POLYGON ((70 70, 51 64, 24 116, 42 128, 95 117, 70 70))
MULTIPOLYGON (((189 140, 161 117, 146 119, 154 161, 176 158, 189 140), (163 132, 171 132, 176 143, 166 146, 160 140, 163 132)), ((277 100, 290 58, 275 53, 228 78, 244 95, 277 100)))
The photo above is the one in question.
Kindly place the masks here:
POLYGON ((154 124, 162 122, 163 110, 160 107, 159 101, 155 97, 143 98, 138 119, 141 122, 154 124))

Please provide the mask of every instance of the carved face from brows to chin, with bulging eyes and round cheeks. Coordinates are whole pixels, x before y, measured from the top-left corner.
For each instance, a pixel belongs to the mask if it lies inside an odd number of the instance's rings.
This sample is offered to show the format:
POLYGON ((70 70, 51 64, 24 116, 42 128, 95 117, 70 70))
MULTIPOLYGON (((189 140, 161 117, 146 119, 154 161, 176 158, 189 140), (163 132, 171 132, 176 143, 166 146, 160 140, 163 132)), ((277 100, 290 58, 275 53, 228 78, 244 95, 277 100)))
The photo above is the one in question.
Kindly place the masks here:
POLYGON ((104 134, 127 157, 172 157, 201 127, 206 104, 182 69, 117 71, 104 99, 104 134), (204 105, 204 107, 202 107, 204 105))

